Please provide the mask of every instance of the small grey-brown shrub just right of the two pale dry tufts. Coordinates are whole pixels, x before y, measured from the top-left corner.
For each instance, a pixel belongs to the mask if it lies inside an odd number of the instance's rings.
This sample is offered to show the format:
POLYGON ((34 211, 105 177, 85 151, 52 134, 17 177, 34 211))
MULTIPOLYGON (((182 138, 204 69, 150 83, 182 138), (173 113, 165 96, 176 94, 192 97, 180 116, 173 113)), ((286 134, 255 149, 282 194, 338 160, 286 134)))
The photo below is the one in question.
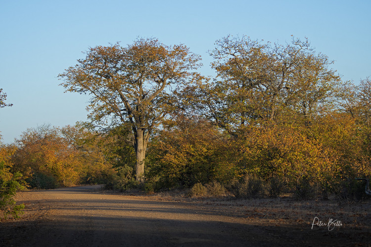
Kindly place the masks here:
POLYGON ((246 175, 242 181, 232 181, 229 190, 236 198, 259 198, 265 195, 266 185, 261 178, 255 175, 246 175))

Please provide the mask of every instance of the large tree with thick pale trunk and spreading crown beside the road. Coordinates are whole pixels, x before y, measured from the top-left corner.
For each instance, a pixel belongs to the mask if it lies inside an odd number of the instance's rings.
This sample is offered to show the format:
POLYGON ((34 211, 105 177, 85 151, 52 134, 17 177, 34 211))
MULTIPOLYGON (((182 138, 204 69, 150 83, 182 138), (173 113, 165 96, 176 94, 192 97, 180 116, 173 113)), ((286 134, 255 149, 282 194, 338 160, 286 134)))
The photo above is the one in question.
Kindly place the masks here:
POLYGON ((150 134, 172 110, 172 92, 196 75, 199 60, 185 45, 138 39, 127 47, 90 48, 85 59, 59 78, 66 91, 92 96, 87 108, 94 123, 130 125, 141 181, 150 134))

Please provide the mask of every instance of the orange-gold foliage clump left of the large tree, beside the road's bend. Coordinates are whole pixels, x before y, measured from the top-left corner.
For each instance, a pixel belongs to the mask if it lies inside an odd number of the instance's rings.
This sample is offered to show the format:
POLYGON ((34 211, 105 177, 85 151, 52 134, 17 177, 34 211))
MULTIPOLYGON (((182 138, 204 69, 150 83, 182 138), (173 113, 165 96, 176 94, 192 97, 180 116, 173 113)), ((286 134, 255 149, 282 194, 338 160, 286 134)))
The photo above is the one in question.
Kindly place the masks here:
POLYGON ((85 128, 42 125, 23 132, 12 155, 13 171, 37 188, 104 182, 113 173, 99 136, 85 128))

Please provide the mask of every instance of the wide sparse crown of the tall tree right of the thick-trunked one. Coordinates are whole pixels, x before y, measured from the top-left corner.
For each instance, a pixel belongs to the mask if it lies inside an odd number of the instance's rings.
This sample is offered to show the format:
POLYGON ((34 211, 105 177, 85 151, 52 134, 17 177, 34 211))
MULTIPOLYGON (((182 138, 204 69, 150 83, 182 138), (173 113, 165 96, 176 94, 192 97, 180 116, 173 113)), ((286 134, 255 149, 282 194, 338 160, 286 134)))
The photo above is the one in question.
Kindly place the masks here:
POLYGON ((187 88, 184 97, 230 133, 262 121, 309 123, 340 80, 308 40, 280 45, 228 36, 210 55, 217 77, 187 88))

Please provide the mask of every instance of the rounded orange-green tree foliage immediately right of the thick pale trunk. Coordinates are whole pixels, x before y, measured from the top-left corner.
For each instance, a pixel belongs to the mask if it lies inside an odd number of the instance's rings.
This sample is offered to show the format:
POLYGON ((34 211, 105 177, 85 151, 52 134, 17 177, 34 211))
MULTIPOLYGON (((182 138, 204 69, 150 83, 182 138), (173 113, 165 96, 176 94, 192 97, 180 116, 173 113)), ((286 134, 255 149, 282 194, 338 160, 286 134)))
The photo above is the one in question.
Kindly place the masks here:
POLYGON ((227 145, 225 135, 208 121, 179 117, 153 138, 148 176, 159 176, 170 187, 225 181, 230 157, 223 149, 227 145))

